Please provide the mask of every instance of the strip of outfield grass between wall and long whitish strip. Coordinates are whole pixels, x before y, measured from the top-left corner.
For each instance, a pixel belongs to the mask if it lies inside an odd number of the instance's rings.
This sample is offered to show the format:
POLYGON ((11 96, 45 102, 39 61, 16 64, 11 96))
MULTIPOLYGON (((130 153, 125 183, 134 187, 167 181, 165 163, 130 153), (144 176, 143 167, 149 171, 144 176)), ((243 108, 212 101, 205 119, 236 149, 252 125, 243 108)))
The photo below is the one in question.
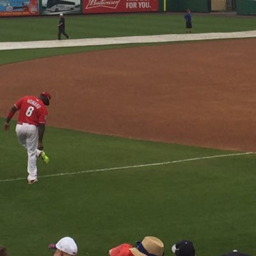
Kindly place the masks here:
MULTIPOLYGON (((194 33, 255 29, 255 19, 193 14, 194 33)), ((1 18, 0 42, 56 40, 59 17, 1 18)), ((128 15, 66 16, 72 39, 180 34, 185 32, 184 13, 136 13, 128 15)))

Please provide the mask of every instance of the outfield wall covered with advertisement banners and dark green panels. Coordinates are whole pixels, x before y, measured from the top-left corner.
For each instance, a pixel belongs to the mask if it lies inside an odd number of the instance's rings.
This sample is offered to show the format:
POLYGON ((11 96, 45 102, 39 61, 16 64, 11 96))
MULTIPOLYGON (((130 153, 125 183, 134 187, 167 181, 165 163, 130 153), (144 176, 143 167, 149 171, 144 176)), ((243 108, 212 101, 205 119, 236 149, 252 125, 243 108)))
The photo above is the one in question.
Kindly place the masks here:
MULTIPOLYGON (((0 17, 89 13, 223 11, 228 0, 1 0, 0 17)), ((235 0, 232 0, 235 1, 235 0)), ((256 15, 256 0, 236 0, 236 12, 256 15)))

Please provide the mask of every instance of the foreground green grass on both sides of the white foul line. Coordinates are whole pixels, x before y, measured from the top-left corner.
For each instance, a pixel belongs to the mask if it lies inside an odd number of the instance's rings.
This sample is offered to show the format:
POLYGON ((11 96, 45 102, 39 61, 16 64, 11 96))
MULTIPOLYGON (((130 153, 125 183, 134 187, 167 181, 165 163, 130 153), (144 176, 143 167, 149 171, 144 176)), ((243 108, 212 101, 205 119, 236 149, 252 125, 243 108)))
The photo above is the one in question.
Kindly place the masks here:
POLYGON ((237 152, 47 127, 51 162, 38 161, 39 182, 28 185, 14 129, 0 133, 0 241, 10 255, 50 255, 47 244, 63 236, 76 239, 79 255, 108 255, 148 235, 163 239, 166 255, 180 239, 196 255, 255 255, 254 154, 140 167, 237 152), (106 168, 116 170, 76 173, 106 168))

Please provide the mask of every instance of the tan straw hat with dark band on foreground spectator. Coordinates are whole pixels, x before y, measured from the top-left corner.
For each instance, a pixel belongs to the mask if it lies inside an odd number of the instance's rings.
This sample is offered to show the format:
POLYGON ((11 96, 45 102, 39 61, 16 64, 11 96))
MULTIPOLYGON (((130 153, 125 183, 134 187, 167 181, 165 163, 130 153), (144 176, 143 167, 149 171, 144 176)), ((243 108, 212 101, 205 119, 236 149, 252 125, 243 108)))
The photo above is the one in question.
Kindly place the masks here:
POLYGON ((164 244, 154 236, 146 236, 136 243, 136 248, 129 249, 134 256, 163 256, 164 244))

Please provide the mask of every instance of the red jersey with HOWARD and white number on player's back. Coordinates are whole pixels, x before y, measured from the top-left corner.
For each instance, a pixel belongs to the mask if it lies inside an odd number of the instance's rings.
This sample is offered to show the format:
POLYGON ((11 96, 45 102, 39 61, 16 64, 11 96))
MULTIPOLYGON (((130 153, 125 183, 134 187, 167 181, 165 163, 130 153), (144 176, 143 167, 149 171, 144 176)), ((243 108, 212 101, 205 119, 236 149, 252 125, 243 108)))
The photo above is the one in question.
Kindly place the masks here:
POLYGON ((15 107, 19 109, 18 122, 36 126, 46 124, 48 111, 44 102, 38 97, 25 96, 15 103, 15 107))

